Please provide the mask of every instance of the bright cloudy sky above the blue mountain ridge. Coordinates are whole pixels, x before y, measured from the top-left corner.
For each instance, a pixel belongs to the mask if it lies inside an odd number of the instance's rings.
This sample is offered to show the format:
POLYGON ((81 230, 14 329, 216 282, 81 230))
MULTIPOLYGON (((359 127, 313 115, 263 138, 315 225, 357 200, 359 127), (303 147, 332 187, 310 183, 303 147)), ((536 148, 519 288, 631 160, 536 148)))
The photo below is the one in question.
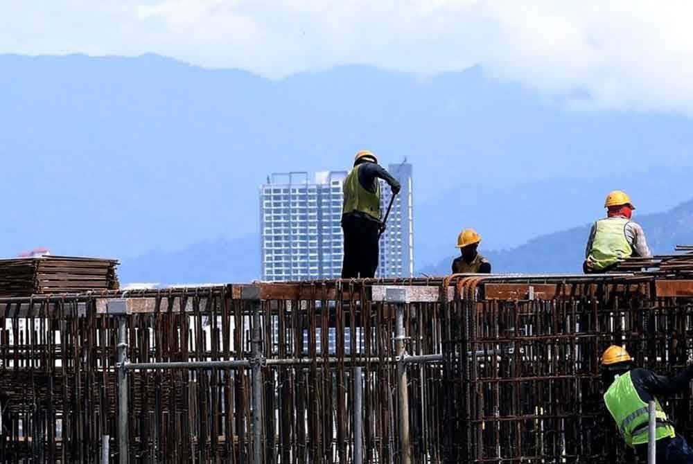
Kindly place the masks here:
POLYGON ((482 64, 587 108, 693 114, 687 0, 0 0, 0 53, 159 53, 269 78, 482 64))

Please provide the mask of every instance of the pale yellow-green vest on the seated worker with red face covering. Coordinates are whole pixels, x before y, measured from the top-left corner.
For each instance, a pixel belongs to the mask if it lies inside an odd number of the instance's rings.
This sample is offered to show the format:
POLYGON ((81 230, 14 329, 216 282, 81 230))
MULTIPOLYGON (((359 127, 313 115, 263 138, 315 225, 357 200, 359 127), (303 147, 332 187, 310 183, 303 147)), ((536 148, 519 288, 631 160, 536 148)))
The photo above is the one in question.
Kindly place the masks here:
POLYGON ((595 270, 601 271, 633 255, 633 248, 626 238, 626 224, 629 222, 625 217, 607 217, 597 221, 592 249, 587 256, 595 270))

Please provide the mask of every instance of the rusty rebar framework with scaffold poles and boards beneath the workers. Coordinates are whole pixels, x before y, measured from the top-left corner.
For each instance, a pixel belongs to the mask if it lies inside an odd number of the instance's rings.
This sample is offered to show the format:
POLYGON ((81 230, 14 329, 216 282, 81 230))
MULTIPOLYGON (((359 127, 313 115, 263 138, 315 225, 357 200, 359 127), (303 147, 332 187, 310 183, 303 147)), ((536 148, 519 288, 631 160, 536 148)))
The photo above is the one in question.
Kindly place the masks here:
MULTIPOLYGON (((599 382, 612 343, 681 371, 693 275, 3 298, 0 462, 629 462, 599 382)), ((690 436, 691 391, 665 409, 690 436)))

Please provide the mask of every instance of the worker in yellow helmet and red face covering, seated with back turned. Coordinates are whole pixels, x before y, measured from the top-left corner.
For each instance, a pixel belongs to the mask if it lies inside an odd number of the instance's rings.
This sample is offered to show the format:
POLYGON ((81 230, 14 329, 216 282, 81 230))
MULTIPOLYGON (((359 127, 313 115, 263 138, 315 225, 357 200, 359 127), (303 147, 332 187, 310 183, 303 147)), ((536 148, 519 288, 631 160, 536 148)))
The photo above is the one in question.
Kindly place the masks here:
POLYGON ((593 224, 585 250, 585 274, 610 271, 623 258, 651 258, 645 233, 631 221, 635 206, 626 193, 614 190, 604 202, 607 217, 593 224))

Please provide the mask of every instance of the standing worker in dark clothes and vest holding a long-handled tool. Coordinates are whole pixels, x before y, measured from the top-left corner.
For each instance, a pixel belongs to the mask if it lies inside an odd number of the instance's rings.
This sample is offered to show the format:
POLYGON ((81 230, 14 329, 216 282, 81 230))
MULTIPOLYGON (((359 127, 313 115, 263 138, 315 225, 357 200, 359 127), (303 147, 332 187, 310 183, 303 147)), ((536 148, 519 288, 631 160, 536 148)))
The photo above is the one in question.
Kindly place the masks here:
POLYGON ((397 179, 378 165, 373 152, 356 154, 353 169, 344 179, 342 231, 344 231, 344 262, 342 278, 372 278, 378 268, 378 239, 385 231, 380 220, 380 182, 383 179, 397 195, 401 186, 397 179))

